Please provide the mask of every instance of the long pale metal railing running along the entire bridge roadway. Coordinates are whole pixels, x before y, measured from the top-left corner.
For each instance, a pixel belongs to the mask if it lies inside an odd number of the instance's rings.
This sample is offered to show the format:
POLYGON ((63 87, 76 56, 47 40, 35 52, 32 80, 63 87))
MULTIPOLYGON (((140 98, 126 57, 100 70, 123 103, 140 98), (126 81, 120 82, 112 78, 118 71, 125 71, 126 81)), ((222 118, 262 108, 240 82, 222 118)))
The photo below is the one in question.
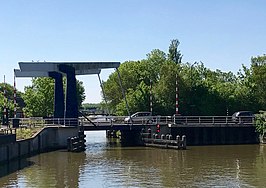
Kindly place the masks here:
MULTIPOLYGON (((101 126, 101 125, 156 125, 156 124, 171 124, 171 125, 254 125, 254 117, 238 117, 236 119, 231 116, 143 116, 132 118, 131 121, 126 121, 128 116, 95 116, 95 117, 80 117, 80 118, 16 118, 18 121, 10 119, 9 127, 7 128, 27 128, 27 127, 44 127, 44 126, 101 126), (90 121, 88 121, 90 120, 90 121), (16 123, 16 124, 14 124, 16 123)), ((2 128, 3 129, 3 128, 2 128)))

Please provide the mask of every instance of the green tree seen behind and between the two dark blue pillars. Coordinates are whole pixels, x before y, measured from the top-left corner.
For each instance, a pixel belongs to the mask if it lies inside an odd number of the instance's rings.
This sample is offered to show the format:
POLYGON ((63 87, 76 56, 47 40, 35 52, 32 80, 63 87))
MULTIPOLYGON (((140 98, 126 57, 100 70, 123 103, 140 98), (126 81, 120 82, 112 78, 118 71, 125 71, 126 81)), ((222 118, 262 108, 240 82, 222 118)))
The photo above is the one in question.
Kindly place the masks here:
MULTIPOLYGON (((83 83, 77 80, 79 108, 85 99, 84 91, 83 83)), ((52 116, 54 108, 54 80, 52 78, 34 78, 32 85, 25 87, 23 99, 26 103, 26 107, 24 108, 26 116, 52 116)))

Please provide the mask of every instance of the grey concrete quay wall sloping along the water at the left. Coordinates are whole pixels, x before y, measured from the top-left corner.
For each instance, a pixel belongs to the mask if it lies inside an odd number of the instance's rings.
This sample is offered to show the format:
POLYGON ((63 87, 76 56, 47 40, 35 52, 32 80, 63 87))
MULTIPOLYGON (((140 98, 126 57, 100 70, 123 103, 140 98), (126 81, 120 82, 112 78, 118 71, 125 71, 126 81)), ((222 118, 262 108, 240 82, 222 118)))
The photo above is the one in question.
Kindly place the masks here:
POLYGON ((67 138, 77 136, 78 131, 78 127, 45 127, 30 139, 1 144, 0 163, 67 148, 67 138))

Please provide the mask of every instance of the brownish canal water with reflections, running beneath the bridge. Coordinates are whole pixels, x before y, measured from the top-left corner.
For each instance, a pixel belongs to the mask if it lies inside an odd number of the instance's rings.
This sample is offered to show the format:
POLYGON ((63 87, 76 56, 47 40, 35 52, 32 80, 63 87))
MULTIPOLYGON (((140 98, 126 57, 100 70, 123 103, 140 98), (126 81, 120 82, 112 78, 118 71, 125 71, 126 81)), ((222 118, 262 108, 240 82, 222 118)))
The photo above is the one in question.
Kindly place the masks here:
POLYGON ((83 153, 64 150, 0 166, 0 187, 265 187, 266 145, 187 150, 120 147, 86 132, 83 153))

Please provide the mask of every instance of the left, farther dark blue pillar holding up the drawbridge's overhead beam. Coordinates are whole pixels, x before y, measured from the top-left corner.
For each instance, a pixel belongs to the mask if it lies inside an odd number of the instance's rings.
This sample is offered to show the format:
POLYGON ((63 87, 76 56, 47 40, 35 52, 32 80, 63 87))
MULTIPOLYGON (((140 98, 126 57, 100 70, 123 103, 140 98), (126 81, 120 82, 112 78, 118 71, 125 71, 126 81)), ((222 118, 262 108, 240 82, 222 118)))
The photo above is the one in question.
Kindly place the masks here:
POLYGON ((49 72, 49 77, 55 80, 54 86, 54 118, 64 118, 64 90, 62 74, 49 72))

